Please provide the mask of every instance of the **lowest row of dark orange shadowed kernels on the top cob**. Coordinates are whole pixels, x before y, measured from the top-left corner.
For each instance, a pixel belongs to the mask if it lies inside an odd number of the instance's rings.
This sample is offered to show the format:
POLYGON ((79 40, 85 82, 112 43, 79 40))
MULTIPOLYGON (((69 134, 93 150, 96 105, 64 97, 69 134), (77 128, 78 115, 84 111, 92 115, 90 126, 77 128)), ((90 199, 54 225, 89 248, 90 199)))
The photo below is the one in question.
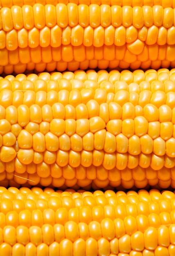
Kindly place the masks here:
MULTIPOLYGON (((166 50, 165 50, 166 54, 166 50)), ((6 57, 5 57, 6 58, 6 57)), ((166 60, 156 60, 156 61, 135 61, 133 63, 126 62, 126 61, 119 61, 119 60, 113 60, 113 61, 106 61, 103 58, 101 60, 84 60, 84 61, 70 61, 65 62, 61 61, 61 58, 59 58, 60 61, 50 61, 49 63, 45 63, 43 61, 40 61, 40 63, 34 63, 29 62, 27 64, 18 62, 15 65, 8 64, 8 60, 6 59, 7 65, 1 65, 0 66, 0 74, 3 74, 3 76, 16 73, 21 74, 21 72, 53 72, 55 70, 59 72, 64 72, 65 70, 69 70, 70 72, 74 72, 78 69, 80 70, 87 70, 90 69, 119 69, 119 70, 125 70, 128 68, 131 68, 133 70, 138 70, 139 68, 142 69, 148 69, 153 68, 158 70, 160 67, 162 68, 169 68, 175 67, 175 61, 166 61, 166 60)), ((174 77, 174 75, 173 75, 174 77)), ((174 79, 174 78, 173 78, 174 79)))

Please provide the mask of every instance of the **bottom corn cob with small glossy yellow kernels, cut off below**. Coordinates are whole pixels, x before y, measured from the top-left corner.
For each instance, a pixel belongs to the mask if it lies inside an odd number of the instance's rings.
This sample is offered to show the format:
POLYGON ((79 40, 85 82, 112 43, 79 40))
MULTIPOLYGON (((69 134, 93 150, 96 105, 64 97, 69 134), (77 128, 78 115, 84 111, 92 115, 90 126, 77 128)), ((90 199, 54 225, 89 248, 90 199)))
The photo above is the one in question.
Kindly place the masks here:
POLYGON ((175 194, 0 187, 7 256, 174 256, 175 194))

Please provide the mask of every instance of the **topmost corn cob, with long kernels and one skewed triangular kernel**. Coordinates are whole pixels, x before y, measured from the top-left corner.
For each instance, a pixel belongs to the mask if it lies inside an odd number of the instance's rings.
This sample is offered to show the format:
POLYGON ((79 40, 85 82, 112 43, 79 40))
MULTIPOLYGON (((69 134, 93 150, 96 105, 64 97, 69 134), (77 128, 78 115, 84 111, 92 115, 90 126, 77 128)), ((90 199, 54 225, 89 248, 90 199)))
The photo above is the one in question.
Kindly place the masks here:
POLYGON ((1 4, 0 74, 175 67, 175 1, 16 2, 1 4))

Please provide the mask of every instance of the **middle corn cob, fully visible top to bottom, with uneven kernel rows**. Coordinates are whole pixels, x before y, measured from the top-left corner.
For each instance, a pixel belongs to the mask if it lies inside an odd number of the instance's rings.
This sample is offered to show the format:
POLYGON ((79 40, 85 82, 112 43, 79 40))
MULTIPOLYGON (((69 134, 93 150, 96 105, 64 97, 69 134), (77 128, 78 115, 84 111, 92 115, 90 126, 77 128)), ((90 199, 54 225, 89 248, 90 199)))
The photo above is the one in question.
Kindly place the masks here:
POLYGON ((175 188, 175 69, 0 79, 1 186, 175 188))

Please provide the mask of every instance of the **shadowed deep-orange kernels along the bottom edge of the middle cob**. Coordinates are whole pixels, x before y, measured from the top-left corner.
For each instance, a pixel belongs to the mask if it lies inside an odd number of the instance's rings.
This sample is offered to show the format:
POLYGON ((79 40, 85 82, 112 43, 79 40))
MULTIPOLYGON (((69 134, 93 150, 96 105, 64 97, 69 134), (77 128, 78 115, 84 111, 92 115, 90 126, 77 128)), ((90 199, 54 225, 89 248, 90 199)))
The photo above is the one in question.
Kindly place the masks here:
MULTIPOLYGON (((156 166, 156 162, 154 165, 156 166)), ((173 162, 174 164, 174 162, 173 162)), ((2 169, 0 173, 1 186, 54 186, 60 189, 112 189, 132 187, 144 188, 146 186, 159 186, 167 189, 175 188, 175 168, 163 167, 154 170, 151 167, 141 168, 113 168, 107 170, 103 166, 60 167, 56 163, 50 166, 42 164, 22 164, 19 161, 6 163, 7 171, 2 169), (15 165, 16 164, 16 165, 15 165), (16 171, 14 171, 16 167, 16 171), (43 167, 43 169, 41 169, 43 167)), ((4 166, 2 166, 4 167, 4 166)), ((156 166, 157 167, 157 166, 156 166)))

